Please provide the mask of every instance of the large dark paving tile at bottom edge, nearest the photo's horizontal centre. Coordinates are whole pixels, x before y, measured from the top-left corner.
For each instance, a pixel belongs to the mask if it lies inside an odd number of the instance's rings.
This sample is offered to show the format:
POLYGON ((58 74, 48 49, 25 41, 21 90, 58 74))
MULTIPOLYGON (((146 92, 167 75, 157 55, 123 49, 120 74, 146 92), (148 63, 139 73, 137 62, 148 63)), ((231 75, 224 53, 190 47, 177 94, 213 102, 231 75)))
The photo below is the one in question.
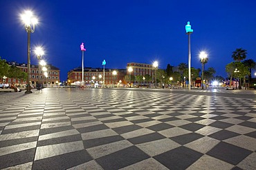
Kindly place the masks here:
POLYGON ((138 149, 138 147, 132 146, 107 156, 102 156, 101 158, 96 159, 96 162, 98 162, 103 169, 114 170, 127 167, 147 158, 150 157, 146 153, 138 149))

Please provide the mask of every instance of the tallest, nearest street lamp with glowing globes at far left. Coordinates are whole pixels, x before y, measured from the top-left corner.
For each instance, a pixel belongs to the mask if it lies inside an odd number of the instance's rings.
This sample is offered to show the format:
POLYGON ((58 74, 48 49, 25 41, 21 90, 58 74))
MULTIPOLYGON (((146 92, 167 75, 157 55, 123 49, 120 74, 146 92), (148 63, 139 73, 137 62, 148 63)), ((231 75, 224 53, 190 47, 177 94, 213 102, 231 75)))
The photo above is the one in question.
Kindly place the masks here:
POLYGON ((35 24, 37 24, 37 19, 33 17, 33 13, 31 11, 26 11, 24 14, 21 14, 21 20, 25 24, 26 32, 28 32, 28 85, 25 94, 31 94, 32 92, 30 86, 30 33, 35 32, 35 24))

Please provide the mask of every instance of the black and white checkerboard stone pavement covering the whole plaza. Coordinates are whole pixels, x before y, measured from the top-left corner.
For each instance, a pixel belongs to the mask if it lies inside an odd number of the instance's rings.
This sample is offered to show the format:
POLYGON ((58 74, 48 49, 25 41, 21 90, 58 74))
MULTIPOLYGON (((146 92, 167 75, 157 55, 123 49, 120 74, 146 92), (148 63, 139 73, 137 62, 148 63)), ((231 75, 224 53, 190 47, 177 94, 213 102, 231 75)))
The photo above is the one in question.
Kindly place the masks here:
POLYGON ((0 169, 256 169, 249 95, 55 88, 0 96, 0 169))

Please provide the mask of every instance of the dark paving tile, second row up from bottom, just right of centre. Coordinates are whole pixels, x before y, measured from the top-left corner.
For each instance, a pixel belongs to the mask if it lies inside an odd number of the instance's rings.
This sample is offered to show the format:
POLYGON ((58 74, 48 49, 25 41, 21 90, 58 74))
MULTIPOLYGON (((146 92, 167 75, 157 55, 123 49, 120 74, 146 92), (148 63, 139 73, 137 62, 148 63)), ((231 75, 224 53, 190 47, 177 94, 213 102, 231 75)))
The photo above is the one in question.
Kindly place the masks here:
POLYGON ((150 142, 150 141, 153 141, 153 140, 159 140, 159 139, 163 139, 163 138, 165 138, 165 136, 154 132, 152 134, 146 134, 146 135, 138 136, 138 137, 135 137, 135 138, 129 138, 128 140, 132 144, 136 145, 136 144, 139 144, 139 143, 150 142))

